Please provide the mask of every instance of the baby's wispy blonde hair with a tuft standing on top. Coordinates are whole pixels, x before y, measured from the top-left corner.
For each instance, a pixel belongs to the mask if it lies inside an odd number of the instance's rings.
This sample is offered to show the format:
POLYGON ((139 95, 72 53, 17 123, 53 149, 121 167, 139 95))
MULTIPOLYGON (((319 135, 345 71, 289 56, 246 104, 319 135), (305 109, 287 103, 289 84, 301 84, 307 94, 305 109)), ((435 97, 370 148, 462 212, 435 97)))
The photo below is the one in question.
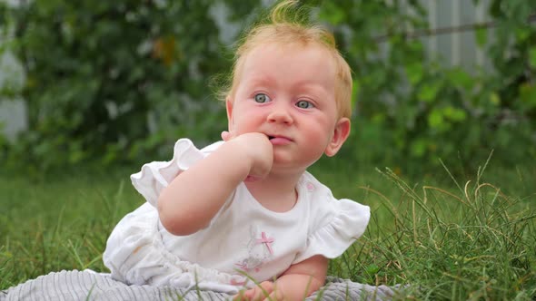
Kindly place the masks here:
POLYGON ((318 24, 304 22, 304 11, 295 10, 298 1, 286 0, 273 7, 267 24, 257 24, 244 35, 234 53, 231 84, 222 92, 223 99, 233 96, 238 86, 243 62, 248 53, 261 44, 301 44, 323 47, 333 57, 336 68, 335 102, 338 117, 352 115, 352 73, 350 66, 337 50, 333 34, 318 24))

